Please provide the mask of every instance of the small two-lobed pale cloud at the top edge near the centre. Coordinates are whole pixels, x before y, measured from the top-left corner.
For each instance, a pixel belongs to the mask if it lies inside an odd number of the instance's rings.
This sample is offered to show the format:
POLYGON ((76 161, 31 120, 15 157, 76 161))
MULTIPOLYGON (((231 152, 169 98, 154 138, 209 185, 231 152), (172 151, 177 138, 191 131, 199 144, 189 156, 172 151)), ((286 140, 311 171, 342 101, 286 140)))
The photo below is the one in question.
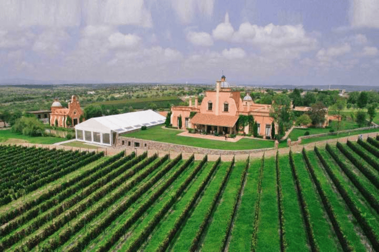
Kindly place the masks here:
POLYGON ((206 17, 213 15, 214 0, 171 0, 171 6, 184 24, 189 24, 197 10, 206 17))

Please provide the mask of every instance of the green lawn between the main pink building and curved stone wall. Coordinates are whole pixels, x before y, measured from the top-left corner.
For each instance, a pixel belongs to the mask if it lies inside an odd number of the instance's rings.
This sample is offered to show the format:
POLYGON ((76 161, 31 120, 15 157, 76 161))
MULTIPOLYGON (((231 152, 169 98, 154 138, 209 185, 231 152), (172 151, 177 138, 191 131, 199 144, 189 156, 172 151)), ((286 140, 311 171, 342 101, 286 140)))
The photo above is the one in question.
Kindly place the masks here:
POLYGON ((181 133, 181 131, 165 129, 158 125, 148 128, 147 130, 127 133, 124 136, 219 150, 252 150, 274 147, 274 142, 267 140, 242 138, 238 142, 232 143, 196 137, 178 136, 177 134, 179 133, 181 133))

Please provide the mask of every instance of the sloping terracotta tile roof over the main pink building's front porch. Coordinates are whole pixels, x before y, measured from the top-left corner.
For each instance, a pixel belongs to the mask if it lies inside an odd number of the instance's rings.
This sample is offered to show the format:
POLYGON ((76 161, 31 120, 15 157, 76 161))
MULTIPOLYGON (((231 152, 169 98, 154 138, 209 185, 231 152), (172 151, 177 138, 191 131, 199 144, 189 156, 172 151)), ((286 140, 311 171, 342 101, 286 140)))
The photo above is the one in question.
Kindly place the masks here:
POLYGON ((191 119, 191 124, 232 127, 237 120, 238 116, 216 116, 212 114, 197 113, 191 119))

